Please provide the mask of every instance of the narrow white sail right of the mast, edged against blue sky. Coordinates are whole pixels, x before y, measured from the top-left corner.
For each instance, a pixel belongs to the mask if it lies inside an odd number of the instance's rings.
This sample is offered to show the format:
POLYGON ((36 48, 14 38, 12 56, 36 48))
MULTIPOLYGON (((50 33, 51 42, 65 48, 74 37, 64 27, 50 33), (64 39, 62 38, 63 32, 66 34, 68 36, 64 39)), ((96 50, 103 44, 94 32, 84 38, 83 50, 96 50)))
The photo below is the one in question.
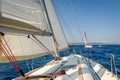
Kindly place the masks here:
POLYGON ((53 29, 54 36, 57 40, 59 49, 67 47, 67 41, 65 39, 65 36, 63 34, 63 31, 61 29, 61 25, 59 23, 59 20, 57 18, 54 6, 52 4, 52 0, 45 0, 48 16, 50 18, 51 27, 53 29))

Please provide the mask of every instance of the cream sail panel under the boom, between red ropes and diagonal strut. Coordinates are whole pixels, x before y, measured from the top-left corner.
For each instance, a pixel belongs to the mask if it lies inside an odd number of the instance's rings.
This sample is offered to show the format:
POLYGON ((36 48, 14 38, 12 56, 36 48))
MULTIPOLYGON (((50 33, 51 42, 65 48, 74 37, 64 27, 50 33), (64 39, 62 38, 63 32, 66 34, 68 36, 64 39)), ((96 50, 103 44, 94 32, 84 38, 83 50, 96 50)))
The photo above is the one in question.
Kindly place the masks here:
MULTIPOLYGON (((18 60, 39 57, 48 53, 48 51, 43 50, 41 46, 27 36, 5 35, 4 38, 18 60)), ((2 43, 5 44, 4 41, 2 43)), ((4 55, 1 56, 4 57, 4 55)))

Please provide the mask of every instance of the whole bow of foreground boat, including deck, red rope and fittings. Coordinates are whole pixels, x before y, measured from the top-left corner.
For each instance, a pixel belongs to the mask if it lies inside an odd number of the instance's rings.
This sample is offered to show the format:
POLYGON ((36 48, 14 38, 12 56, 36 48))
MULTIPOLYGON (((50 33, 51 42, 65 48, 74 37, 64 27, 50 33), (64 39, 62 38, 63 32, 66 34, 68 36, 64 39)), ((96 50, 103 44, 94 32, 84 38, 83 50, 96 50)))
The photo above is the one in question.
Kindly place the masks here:
POLYGON ((14 80, 119 80, 101 64, 81 55, 72 54, 14 80))

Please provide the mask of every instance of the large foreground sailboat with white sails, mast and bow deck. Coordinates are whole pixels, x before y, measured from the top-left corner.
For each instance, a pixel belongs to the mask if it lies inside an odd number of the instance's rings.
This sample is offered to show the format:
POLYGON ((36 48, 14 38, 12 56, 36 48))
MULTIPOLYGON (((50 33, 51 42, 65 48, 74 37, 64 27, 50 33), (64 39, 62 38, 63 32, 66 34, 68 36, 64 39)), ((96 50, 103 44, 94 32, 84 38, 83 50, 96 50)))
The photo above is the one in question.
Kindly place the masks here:
POLYGON ((58 52, 67 48, 52 0, 0 0, 0 61, 20 74, 13 80, 118 80, 82 55, 60 58, 58 52), (17 62, 48 54, 54 60, 28 73, 17 62))

